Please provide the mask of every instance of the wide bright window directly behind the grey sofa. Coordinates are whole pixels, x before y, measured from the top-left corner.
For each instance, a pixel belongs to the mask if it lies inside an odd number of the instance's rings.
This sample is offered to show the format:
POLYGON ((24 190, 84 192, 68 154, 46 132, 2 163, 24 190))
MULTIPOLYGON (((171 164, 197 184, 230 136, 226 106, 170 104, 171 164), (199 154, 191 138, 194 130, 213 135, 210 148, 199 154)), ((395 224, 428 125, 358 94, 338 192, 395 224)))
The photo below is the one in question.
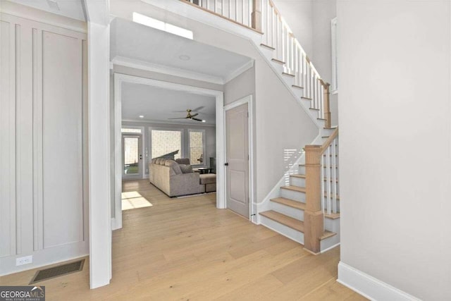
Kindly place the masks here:
POLYGON ((151 130, 152 158, 181 158, 182 137, 181 130, 151 130))

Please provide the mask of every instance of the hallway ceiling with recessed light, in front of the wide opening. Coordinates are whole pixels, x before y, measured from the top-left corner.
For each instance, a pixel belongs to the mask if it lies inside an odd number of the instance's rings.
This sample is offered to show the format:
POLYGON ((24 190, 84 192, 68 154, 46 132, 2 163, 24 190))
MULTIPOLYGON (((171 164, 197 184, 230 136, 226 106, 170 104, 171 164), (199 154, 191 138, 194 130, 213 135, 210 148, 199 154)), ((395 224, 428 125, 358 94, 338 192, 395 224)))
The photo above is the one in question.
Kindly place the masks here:
POLYGON ((111 60, 121 58, 209 75, 222 83, 252 64, 247 56, 116 18, 111 24, 111 60), (180 56, 190 56, 190 60, 180 56))

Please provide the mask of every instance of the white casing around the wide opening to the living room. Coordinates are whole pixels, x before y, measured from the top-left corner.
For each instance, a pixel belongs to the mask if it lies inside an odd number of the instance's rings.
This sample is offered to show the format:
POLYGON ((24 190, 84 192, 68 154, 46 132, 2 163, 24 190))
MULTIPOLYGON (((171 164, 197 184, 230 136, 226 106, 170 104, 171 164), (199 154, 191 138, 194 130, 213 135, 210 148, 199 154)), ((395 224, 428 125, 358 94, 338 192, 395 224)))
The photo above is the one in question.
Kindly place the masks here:
MULTIPOLYGON (((190 85, 175 84, 151 78, 141 78, 134 75, 114 73, 114 218, 111 219, 111 228, 122 228, 122 166, 121 166, 121 127, 122 127, 122 84, 123 82, 150 85, 170 90, 201 94, 216 99, 216 208, 226 208, 226 168, 224 168, 224 92, 209 90, 190 85)), ((143 168, 145 170, 145 168, 143 168)))

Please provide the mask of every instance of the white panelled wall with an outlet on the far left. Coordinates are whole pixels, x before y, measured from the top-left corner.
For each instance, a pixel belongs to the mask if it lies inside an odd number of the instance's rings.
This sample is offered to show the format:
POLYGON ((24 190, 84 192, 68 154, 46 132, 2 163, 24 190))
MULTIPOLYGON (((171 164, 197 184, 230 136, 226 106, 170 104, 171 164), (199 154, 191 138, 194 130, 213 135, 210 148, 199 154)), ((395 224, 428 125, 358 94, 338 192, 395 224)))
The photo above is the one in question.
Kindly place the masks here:
POLYGON ((87 42, 82 22, 11 3, 0 17, 2 275, 88 254, 87 42))

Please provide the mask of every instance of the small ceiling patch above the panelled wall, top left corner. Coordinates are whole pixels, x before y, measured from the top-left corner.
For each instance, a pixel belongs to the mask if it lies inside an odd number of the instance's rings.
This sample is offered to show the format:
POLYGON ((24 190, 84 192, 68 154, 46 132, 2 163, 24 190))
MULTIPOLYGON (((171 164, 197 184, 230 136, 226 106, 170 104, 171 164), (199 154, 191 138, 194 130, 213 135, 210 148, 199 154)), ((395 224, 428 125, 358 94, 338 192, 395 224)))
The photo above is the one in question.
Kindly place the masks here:
MULTIPOLYGON (((0 0, 3 1, 3 0, 0 0)), ((18 4, 31 6, 49 13, 85 21, 82 0, 9 0, 18 4), (54 4, 57 4, 57 7, 54 4), (53 5, 53 6, 52 6, 53 5)))

